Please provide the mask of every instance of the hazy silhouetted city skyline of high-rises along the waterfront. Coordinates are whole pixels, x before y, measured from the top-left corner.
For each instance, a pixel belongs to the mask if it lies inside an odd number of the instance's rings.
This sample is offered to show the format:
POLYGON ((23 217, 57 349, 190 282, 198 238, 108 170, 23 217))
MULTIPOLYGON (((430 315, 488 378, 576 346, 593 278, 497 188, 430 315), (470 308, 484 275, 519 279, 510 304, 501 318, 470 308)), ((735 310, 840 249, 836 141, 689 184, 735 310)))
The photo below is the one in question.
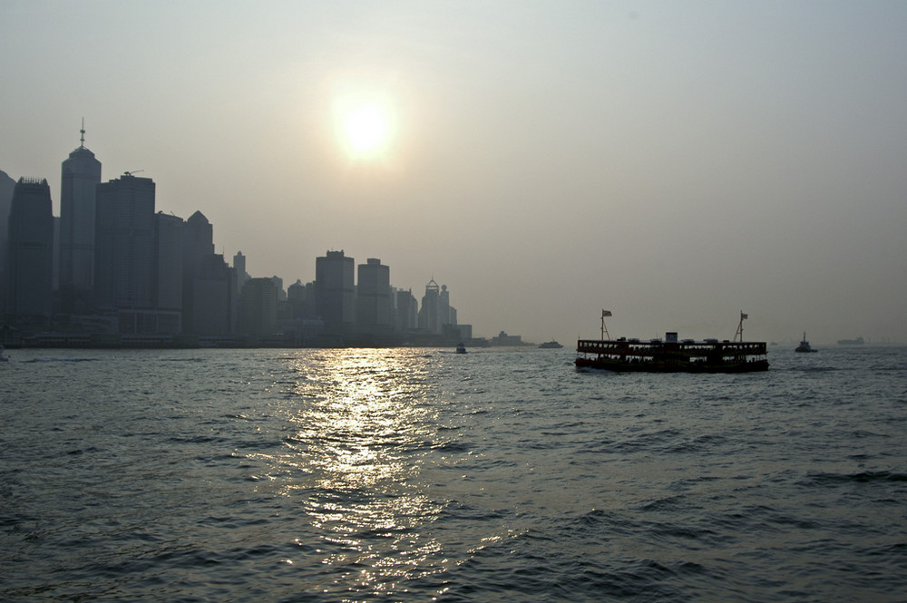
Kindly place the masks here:
MULTIPOLYGON (((185 220, 157 210, 156 183, 134 172, 100 182, 102 163, 82 134, 62 163, 63 217, 53 216, 46 179, 21 177, 11 196, 0 191, 0 206, 10 206, 0 216, 9 234, 0 269, 5 339, 15 341, 17 331, 69 345, 110 345, 112 336, 146 345, 197 345, 198 337, 219 345, 267 337, 269 345, 292 346, 472 340, 471 326, 457 326, 447 287, 434 279, 416 324, 412 289, 391 287, 390 267, 378 258, 357 267, 356 282, 355 259, 327 251, 316 258, 315 281, 297 280, 288 290, 278 276, 251 277, 241 251, 229 267, 200 210, 185 220)), ((0 172, 0 182, 10 181, 0 172)))

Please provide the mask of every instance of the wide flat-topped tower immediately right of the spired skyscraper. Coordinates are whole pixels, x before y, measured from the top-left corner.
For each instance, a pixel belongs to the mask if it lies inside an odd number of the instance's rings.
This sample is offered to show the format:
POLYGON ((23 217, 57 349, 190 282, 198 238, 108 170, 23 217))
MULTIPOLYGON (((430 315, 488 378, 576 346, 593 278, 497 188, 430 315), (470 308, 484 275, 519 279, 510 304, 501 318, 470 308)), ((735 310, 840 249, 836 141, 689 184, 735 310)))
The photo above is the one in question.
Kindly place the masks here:
POLYGON ((121 333, 148 333, 155 307, 154 181, 129 172, 97 187, 94 294, 98 306, 120 311, 121 333))

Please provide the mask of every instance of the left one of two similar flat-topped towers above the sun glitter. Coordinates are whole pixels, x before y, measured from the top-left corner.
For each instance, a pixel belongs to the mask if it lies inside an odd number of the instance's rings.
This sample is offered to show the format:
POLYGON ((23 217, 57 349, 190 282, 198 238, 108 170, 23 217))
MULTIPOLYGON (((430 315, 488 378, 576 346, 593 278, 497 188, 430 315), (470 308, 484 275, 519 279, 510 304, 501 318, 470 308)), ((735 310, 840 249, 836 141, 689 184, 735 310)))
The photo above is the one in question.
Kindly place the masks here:
POLYGON ((315 311, 328 335, 344 335, 353 326, 354 269, 353 258, 346 258, 342 249, 315 259, 315 311))

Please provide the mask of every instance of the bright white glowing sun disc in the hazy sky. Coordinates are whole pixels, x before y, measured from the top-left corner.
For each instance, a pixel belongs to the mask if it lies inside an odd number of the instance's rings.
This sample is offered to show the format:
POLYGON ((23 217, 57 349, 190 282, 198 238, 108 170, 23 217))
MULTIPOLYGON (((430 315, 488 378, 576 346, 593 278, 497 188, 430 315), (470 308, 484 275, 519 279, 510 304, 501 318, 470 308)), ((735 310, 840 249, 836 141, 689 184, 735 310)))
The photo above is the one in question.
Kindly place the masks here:
POLYGON ((334 103, 337 138, 351 160, 386 159, 394 141, 395 113, 389 98, 346 92, 334 103))

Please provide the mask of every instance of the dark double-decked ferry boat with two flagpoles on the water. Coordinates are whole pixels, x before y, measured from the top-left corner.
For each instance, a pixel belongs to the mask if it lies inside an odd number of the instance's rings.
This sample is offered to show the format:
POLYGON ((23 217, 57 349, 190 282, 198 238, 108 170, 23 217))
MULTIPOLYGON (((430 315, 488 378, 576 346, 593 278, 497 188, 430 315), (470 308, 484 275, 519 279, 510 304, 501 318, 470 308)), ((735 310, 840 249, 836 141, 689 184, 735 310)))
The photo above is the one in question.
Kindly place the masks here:
POLYGON ((606 339, 602 316, 602 338, 580 339, 576 343, 576 370, 606 370, 637 373, 752 373, 768 370, 766 342, 743 341, 741 313, 737 335, 740 341, 705 339, 678 341, 678 334, 669 331, 665 338, 606 339))

